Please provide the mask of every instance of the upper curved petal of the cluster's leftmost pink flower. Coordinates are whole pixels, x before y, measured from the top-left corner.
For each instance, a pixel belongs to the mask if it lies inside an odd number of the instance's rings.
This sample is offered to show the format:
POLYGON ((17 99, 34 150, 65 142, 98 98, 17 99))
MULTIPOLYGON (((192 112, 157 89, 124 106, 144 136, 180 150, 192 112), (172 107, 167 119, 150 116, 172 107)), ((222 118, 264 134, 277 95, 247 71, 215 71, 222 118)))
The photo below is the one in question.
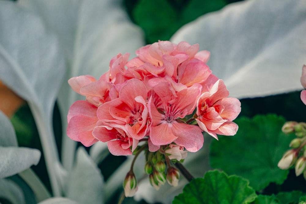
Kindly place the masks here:
POLYGON ((67 115, 68 123, 72 117, 77 115, 97 118, 97 107, 87 101, 76 101, 69 108, 67 115))

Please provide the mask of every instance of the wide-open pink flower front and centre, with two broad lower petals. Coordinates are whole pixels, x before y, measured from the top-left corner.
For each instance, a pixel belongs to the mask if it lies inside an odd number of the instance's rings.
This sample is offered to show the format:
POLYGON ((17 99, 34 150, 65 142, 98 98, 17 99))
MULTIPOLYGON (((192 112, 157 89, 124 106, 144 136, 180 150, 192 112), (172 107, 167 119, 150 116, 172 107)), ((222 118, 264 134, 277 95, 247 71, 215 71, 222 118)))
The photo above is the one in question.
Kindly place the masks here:
POLYGON ((184 118, 195 109, 196 100, 201 93, 200 84, 176 92, 170 87, 170 83, 165 81, 156 85, 154 91, 155 98, 150 98, 148 102, 152 144, 158 146, 175 142, 188 151, 198 151, 203 146, 201 129, 195 125, 181 123, 177 119, 184 118))

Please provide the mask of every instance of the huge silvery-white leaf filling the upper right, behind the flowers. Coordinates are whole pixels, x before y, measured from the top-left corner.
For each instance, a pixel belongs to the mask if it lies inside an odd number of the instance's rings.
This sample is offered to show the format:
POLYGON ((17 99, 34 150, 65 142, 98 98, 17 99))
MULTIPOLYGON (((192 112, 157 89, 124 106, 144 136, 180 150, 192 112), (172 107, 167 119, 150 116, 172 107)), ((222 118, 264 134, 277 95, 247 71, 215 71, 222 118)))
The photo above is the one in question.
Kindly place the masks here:
POLYGON ((207 65, 224 80, 230 96, 248 98, 302 89, 304 33, 304 0, 249 0, 203 15, 171 41, 199 43, 200 50, 210 51, 207 65))

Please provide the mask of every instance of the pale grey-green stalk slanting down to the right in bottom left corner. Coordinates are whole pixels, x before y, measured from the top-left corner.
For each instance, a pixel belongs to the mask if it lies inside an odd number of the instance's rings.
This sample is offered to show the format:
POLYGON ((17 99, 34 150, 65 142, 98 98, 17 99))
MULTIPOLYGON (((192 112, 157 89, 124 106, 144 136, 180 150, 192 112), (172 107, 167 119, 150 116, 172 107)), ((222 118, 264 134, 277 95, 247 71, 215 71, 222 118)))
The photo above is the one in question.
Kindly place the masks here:
POLYGON ((34 192, 37 201, 43 201, 45 199, 51 198, 51 195, 45 185, 41 182, 38 176, 33 172, 32 169, 26 169, 18 175, 28 184, 28 186, 34 192))

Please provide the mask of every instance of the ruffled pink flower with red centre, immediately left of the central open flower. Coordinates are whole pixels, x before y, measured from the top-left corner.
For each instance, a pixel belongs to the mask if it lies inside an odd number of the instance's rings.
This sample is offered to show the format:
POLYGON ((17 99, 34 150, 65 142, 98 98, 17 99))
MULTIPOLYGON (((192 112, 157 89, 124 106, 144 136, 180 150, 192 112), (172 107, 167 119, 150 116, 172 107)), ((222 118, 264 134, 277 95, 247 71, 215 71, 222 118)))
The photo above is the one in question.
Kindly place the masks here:
POLYGON ((130 79, 122 86, 118 99, 101 105, 97 111, 100 120, 109 124, 125 124, 127 134, 135 139, 147 135, 147 89, 143 82, 130 79))

